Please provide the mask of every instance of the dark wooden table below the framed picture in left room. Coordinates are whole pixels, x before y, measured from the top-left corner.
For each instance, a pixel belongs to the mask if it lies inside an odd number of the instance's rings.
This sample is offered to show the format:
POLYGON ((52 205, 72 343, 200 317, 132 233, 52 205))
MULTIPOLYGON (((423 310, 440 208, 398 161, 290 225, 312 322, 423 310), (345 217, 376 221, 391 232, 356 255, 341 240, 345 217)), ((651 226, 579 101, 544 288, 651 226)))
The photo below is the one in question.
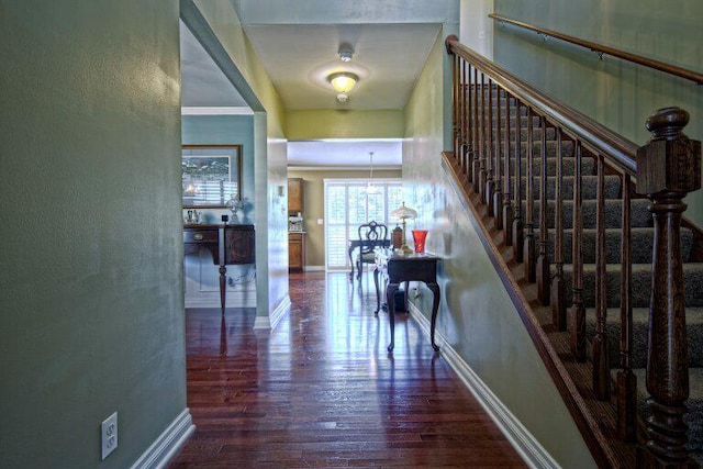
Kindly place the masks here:
POLYGON ((208 250, 220 266, 220 305, 224 314, 227 265, 254 264, 254 225, 183 225, 183 253, 208 250))

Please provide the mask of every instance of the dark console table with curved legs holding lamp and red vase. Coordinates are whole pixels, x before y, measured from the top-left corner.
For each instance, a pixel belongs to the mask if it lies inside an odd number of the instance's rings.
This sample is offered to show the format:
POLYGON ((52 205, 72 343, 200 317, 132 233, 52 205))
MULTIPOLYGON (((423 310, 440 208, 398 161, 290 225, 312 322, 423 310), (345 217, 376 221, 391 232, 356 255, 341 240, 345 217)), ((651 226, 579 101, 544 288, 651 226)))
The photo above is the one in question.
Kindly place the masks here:
POLYGON ((386 302, 388 304, 388 317, 391 324, 391 343, 388 351, 393 351, 395 339, 395 302, 393 301, 398 286, 401 282, 422 281, 433 293, 432 320, 429 325, 429 339, 432 348, 439 350, 435 344, 435 324, 437 321, 437 310, 439 309, 439 286, 437 284, 437 261, 439 257, 431 254, 408 254, 401 255, 391 249, 376 250, 376 269, 373 270, 373 282, 376 283, 376 312, 378 315, 381 309, 381 294, 378 284, 379 275, 387 281, 386 302))

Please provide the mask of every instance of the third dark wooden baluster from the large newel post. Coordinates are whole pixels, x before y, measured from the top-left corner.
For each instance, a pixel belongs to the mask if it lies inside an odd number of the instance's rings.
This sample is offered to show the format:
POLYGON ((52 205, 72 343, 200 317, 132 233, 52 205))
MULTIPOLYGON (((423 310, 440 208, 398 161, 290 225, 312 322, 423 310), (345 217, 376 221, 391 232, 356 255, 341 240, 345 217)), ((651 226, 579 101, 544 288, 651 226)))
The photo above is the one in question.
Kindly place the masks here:
POLYGON ((583 219, 581 214, 581 142, 576 141, 576 166, 573 169, 573 242, 572 300, 569 312, 571 351, 578 361, 585 361, 585 310, 583 306, 583 219))

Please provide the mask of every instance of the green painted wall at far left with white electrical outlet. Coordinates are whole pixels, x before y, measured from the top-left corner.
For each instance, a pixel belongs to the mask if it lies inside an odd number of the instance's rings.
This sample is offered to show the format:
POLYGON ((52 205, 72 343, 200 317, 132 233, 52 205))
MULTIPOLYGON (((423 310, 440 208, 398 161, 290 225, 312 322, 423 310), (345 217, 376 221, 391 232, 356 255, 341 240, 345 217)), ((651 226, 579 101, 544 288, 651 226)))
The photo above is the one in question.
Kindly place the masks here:
POLYGON ((0 1, 0 467, 125 468, 186 409, 178 14, 0 1))

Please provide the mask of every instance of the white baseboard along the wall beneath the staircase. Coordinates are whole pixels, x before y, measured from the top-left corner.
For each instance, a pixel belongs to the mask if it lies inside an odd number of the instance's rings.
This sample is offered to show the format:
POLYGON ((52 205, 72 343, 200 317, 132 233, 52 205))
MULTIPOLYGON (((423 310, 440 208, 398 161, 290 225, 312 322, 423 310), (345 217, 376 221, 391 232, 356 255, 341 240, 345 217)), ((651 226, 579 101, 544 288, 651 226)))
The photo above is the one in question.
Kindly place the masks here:
MULTIPOLYGON (((420 328, 429 337, 429 320, 412 302, 408 302, 410 314, 420 328)), ((560 466, 539 442, 525 428, 513 413, 498 399, 481 378, 449 345, 447 339, 435 331, 435 343, 439 346, 442 356, 456 371, 464 384, 471 391, 476 400, 490 415, 505 438, 520 454, 531 468, 559 469, 560 466)))

